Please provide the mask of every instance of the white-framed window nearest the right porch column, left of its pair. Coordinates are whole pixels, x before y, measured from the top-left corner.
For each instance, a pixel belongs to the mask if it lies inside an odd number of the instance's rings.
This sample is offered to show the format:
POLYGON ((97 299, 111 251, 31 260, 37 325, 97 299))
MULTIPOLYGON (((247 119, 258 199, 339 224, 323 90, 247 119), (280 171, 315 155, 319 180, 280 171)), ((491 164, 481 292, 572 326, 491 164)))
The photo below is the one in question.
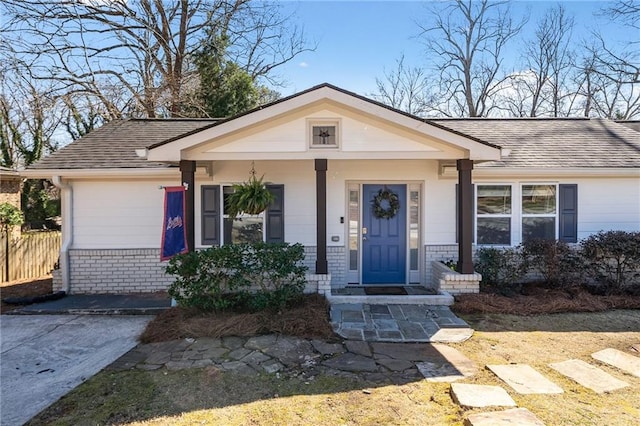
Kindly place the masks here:
POLYGON ((511 245, 511 185, 477 185, 476 242, 511 245))

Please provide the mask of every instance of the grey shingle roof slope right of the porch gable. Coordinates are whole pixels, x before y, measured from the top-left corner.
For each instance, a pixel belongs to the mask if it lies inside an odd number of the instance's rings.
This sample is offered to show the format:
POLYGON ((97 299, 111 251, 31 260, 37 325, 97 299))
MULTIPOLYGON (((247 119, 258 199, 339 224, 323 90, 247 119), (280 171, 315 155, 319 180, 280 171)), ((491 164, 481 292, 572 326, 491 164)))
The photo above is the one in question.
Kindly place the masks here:
POLYGON ((511 150, 478 167, 640 168, 640 133, 606 119, 429 120, 511 150))

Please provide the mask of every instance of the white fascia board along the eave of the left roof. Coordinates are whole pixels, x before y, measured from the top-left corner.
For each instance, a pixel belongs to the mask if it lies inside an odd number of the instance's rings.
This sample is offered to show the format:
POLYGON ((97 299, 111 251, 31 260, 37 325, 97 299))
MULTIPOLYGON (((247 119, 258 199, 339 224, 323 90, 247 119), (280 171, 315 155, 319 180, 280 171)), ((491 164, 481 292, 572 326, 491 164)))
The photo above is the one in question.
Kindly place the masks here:
POLYGON ((166 177, 180 174, 177 167, 166 168, 126 168, 126 169, 27 169, 20 176, 29 179, 51 179, 52 176, 63 178, 127 178, 127 177, 166 177))

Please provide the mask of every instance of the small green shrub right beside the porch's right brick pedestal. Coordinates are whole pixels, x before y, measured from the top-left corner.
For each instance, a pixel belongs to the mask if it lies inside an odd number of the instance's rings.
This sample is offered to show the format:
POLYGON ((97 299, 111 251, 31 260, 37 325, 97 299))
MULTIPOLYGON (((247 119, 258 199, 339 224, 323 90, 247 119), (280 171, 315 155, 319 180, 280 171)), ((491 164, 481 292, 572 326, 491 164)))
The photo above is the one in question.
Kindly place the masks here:
POLYGON ((526 272, 520 247, 483 247, 476 253, 474 268, 482 275, 482 291, 492 290, 505 295, 519 292, 520 279, 526 272))

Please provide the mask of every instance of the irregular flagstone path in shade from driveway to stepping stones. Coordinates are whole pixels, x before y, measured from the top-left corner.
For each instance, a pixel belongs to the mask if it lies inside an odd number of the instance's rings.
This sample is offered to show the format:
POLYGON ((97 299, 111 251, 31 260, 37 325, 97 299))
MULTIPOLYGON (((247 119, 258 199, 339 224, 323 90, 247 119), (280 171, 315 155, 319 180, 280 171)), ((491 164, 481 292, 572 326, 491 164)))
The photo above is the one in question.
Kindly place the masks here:
MULTIPOLYGON (((327 343, 297 337, 183 339, 140 344, 111 370, 215 368, 242 375, 277 373, 312 380, 318 374, 362 378, 375 383, 408 383, 458 372, 473 363, 454 348, 426 343, 344 341, 327 343), (419 369, 417 364, 421 365, 419 369)), ((458 373, 460 377, 462 373, 458 373)), ((457 378, 452 378, 456 380, 457 378)))

